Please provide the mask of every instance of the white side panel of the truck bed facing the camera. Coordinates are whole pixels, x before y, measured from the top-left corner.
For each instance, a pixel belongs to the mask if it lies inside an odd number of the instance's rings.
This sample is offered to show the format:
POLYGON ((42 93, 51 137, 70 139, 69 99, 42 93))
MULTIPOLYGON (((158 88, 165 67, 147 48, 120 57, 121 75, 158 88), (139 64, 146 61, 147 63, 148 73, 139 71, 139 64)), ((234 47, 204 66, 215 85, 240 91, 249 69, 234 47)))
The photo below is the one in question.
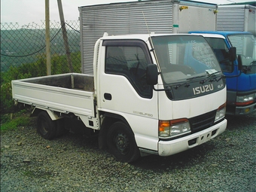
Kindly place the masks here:
POLYGON ((73 112, 93 116, 93 93, 66 90, 38 84, 13 81, 14 99, 32 105, 40 105, 56 111, 73 112))

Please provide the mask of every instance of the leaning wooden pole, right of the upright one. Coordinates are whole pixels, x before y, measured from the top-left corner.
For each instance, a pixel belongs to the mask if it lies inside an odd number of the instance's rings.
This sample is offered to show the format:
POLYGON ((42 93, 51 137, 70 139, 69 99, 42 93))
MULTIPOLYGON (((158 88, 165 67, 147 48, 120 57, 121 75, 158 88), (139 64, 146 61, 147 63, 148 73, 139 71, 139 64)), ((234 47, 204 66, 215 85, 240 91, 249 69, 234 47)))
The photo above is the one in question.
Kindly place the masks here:
POLYGON ((58 1, 58 8, 59 8, 59 19, 60 19, 61 28, 62 28, 62 36, 63 36, 63 41, 66 49, 67 61, 69 63, 69 72, 73 72, 72 59, 71 59, 70 50, 69 50, 68 35, 66 31, 66 25, 65 25, 63 9, 62 9, 62 2, 61 0, 57 0, 57 1, 58 1))

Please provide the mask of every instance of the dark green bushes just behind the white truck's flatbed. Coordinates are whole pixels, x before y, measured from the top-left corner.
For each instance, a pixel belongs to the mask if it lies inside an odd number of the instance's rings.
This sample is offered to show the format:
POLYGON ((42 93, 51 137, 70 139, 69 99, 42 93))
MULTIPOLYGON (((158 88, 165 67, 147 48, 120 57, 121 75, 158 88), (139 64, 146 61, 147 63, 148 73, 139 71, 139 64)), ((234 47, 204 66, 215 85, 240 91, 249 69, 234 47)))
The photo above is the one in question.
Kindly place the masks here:
MULTIPOLYGON (((74 72, 81 71, 81 53, 71 53, 72 66, 74 72)), ((26 63, 18 67, 10 67, 8 71, 1 72, 1 114, 15 111, 14 101, 12 99, 11 80, 34 78, 45 76, 46 74, 46 56, 39 56, 36 62, 26 63)), ((69 72, 69 65, 66 55, 51 56, 51 73, 52 75, 69 72)))

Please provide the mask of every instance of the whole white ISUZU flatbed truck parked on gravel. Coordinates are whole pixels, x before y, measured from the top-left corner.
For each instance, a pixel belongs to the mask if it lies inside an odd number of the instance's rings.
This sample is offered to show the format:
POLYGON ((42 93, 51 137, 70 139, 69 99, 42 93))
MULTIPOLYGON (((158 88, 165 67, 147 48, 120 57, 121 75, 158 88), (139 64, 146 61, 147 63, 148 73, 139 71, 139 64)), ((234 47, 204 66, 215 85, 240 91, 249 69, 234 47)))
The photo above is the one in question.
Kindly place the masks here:
POLYGON ((194 148, 227 126, 223 74, 200 35, 105 34, 94 47, 93 75, 15 80, 12 91, 33 106, 44 139, 75 128, 67 122, 76 119, 123 162, 194 148))

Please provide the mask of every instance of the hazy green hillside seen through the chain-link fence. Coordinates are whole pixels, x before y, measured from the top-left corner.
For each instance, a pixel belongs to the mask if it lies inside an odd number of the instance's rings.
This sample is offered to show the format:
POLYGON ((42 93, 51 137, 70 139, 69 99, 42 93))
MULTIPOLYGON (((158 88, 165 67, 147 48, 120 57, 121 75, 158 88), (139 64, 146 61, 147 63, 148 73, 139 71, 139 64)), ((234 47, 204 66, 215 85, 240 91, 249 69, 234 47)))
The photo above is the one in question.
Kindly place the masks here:
MULTIPOLYGON (((75 26, 79 22, 73 23, 75 26)), ((1 71, 6 72, 10 66, 21 66, 24 63, 35 62, 38 55, 45 53, 45 29, 9 29, 1 23, 1 71)), ((56 25, 55 25, 56 26, 56 25)), ((62 30, 50 28, 50 53, 62 56, 66 54, 62 30)), ((69 49, 72 53, 80 51, 80 34, 73 29, 67 29, 69 49)), ((80 67, 79 67, 80 68, 80 67)))

